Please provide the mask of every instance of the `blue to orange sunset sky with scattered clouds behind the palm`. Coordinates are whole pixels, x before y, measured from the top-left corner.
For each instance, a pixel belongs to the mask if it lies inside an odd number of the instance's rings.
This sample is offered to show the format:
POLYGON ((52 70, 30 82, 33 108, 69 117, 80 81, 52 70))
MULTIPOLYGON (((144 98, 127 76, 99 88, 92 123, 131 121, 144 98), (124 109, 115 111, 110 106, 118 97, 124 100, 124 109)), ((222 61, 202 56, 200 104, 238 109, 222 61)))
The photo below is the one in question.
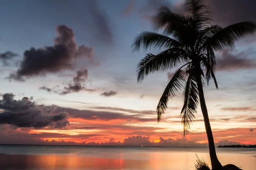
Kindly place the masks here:
MULTIPOLYGON (((183 136, 182 92, 157 122, 173 70, 137 83, 134 38, 182 0, 2 0, 0 144, 207 146, 200 109, 183 136)), ((206 0, 213 23, 256 22, 256 2, 206 0)), ((256 36, 216 51, 205 98, 216 145, 256 144, 256 36)))

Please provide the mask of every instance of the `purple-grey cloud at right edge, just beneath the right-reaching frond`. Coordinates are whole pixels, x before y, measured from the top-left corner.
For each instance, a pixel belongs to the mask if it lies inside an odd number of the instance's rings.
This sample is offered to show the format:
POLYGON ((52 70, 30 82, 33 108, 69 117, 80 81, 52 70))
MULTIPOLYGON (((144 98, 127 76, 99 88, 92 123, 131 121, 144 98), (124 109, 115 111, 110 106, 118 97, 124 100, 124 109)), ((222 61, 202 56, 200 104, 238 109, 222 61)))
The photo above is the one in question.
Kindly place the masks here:
POLYGON ((218 71, 256 68, 255 59, 247 58, 250 54, 254 54, 254 51, 232 52, 230 49, 221 51, 221 57, 216 59, 218 71))

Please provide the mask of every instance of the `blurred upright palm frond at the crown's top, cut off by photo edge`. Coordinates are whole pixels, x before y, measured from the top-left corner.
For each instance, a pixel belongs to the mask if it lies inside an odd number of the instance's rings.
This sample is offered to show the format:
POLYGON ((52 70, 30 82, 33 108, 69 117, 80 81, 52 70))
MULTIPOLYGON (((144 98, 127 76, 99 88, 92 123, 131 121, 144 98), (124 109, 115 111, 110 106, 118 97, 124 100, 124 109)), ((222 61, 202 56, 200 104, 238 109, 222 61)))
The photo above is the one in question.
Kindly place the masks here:
POLYGON ((202 23, 209 23, 212 20, 209 7, 203 0, 187 0, 186 11, 189 12, 200 25, 202 23))

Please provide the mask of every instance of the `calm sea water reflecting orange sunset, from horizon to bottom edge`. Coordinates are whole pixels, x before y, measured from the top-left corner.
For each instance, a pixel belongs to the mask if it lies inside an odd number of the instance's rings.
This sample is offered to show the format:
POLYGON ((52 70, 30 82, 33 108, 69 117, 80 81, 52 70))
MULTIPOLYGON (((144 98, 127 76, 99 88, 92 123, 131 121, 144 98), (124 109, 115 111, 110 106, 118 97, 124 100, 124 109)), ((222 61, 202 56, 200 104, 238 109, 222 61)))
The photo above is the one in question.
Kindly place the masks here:
MULTIPOLYGON (((216 148, 222 164, 256 170, 256 148, 216 148)), ((208 148, 0 145, 0 170, 195 170, 208 148)))

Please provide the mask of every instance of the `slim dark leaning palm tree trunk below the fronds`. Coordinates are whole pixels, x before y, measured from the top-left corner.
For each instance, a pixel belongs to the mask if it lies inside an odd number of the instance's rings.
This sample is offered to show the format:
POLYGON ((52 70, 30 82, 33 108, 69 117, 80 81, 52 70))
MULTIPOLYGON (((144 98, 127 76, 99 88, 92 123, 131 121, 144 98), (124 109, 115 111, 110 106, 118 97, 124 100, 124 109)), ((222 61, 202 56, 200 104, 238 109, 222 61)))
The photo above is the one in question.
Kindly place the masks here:
MULTIPOLYGON (((201 70, 201 68, 200 68, 200 70, 201 70)), ((204 125, 205 125, 207 138, 208 138, 212 170, 221 170, 222 165, 216 155, 214 140, 213 140, 213 136, 212 136, 212 129, 211 129, 208 111, 207 111, 207 107, 206 107, 206 103, 205 103, 205 99, 204 99, 204 89, 203 89, 202 80, 201 80, 201 71, 196 74, 196 81, 197 81, 197 86, 198 86, 201 110, 202 110, 202 113, 204 116, 204 125)))

